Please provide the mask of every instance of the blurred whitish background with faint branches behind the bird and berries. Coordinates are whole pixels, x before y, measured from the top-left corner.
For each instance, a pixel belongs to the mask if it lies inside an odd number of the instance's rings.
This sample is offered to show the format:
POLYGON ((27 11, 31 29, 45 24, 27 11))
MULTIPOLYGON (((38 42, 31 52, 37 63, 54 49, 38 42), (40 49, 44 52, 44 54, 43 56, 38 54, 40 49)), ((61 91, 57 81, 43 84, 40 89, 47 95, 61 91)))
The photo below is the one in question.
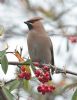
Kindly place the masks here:
MULTIPOLYGON (((0 36, 0 51, 7 44, 7 51, 22 47, 22 55, 28 58, 26 43, 28 27, 24 21, 35 16, 43 17, 42 23, 52 39, 55 65, 77 72, 77 43, 72 43, 68 39, 68 35, 77 35, 76 0, 0 0, 0 27, 4 27, 4 34, 0 36)), ((18 61, 12 54, 7 54, 7 58, 9 61, 18 61)), ((4 75, 0 67, 0 80, 14 79, 15 68, 16 66, 10 65, 7 74, 4 75)), ((49 100, 71 100, 75 89, 62 93, 61 89, 76 82, 77 78, 62 74, 54 74, 52 78, 58 89, 50 95, 49 100)), ((36 86, 36 83, 33 83, 33 86, 36 86)), ((36 92, 36 88, 34 91, 36 92)), ((46 96, 40 95, 40 100, 45 98, 46 96)), ((22 89, 19 100, 39 100, 39 94, 25 93, 22 89)))

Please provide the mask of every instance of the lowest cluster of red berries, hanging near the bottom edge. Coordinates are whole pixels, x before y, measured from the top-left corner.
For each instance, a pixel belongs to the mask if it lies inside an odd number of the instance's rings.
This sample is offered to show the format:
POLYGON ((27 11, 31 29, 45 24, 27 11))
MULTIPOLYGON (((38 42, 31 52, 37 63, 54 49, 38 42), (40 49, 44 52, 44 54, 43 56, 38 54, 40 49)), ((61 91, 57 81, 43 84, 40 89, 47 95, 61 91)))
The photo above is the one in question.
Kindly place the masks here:
POLYGON ((45 93, 53 92, 55 87, 52 85, 42 84, 37 87, 37 90, 44 95, 45 93))

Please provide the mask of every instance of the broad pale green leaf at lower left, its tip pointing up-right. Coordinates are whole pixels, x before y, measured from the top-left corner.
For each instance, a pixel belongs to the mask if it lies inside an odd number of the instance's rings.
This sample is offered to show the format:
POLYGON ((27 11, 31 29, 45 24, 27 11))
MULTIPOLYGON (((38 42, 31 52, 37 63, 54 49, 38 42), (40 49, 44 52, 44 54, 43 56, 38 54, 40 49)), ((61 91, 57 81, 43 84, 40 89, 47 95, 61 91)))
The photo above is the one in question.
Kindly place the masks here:
POLYGON ((20 85, 19 80, 12 80, 11 82, 6 84, 6 87, 8 88, 9 91, 13 91, 20 85))

